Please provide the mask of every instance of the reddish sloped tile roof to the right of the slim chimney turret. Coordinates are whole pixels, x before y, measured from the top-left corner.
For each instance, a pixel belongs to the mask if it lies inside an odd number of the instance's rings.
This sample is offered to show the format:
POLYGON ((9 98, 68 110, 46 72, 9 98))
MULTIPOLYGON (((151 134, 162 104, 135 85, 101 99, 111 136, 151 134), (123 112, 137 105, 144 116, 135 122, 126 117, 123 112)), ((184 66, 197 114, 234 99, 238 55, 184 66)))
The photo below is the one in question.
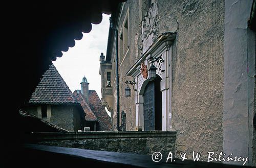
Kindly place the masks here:
POLYGON ((95 90, 89 90, 89 105, 99 122, 100 131, 111 131, 111 118, 106 113, 105 107, 101 105, 98 94, 95 90))

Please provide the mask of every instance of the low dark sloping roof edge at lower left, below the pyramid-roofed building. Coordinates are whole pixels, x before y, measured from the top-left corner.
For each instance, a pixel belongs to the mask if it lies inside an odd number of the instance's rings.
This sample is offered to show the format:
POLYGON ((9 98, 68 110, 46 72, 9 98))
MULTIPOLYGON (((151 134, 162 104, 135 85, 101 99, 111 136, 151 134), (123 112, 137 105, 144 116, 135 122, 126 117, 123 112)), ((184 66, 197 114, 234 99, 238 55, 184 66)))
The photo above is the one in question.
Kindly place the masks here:
MULTIPOLYGON (((50 128, 51 131, 69 132, 66 129, 63 129, 59 126, 56 126, 52 123, 49 123, 49 122, 45 121, 44 119, 38 118, 37 116, 35 116, 33 114, 27 113, 26 111, 24 111, 22 109, 19 109, 19 115, 26 118, 26 119, 29 119, 29 123, 31 123, 31 124, 33 123, 33 124, 39 125, 39 123, 40 123, 41 125, 44 125, 44 128, 48 131, 49 131, 49 128, 50 128)), ((36 126, 34 125, 32 127, 36 127, 36 126)))

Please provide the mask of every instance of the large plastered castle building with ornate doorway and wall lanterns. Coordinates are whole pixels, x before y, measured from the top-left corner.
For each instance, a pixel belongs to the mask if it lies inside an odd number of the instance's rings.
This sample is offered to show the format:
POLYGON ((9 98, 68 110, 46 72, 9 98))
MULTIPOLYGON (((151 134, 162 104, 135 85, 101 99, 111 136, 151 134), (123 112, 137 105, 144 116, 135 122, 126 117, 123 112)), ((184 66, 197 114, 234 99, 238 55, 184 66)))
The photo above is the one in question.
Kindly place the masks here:
POLYGON ((176 130, 176 156, 224 152, 256 165, 254 13, 253 0, 120 4, 100 55, 113 129, 176 130))

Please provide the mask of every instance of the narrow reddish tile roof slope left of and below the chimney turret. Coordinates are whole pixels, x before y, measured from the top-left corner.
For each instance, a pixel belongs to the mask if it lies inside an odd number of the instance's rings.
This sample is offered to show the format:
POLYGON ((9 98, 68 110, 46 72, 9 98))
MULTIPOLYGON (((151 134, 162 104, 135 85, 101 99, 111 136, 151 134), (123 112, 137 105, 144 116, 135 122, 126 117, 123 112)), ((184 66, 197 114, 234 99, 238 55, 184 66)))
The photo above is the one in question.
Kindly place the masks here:
POLYGON ((90 106, 86 103, 86 99, 82 95, 81 90, 75 90, 73 94, 74 94, 76 100, 82 106, 84 113, 86 113, 86 116, 85 116, 86 121, 88 121, 88 122, 97 121, 97 117, 94 115, 90 106))

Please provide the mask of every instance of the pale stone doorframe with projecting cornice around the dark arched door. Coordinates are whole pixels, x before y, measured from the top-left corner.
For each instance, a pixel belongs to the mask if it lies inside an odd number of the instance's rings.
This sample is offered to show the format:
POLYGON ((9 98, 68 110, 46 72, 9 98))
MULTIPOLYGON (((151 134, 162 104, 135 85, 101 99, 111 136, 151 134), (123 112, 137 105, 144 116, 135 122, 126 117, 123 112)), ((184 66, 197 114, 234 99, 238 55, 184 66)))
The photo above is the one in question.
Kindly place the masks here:
MULTIPOLYGON (((136 105, 136 126, 141 126, 144 130, 144 114, 143 114, 143 94, 147 83, 150 81, 148 76, 143 77, 141 73, 141 64, 150 69, 150 57, 162 57, 164 62, 160 64, 164 72, 157 69, 157 74, 161 77, 161 91, 162 91, 162 130, 167 131, 171 129, 172 119, 172 44, 176 38, 176 33, 166 32, 162 33, 152 45, 142 54, 136 63, 127 71, 126 75, 135 79, 135 105, 136 105)), ((159 64, 154 62, 154 65, 159 68, 159 64)), ((149 72, 148 72, 149 73, 149 72)))

